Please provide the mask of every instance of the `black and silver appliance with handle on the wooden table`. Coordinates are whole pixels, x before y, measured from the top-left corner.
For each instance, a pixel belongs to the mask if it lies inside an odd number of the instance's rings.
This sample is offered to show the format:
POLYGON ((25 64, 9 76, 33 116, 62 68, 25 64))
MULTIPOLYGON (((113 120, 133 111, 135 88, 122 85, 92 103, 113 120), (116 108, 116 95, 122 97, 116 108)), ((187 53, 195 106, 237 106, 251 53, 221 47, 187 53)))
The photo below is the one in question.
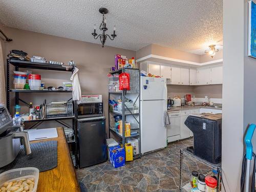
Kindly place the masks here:
POLYGON ((20 140, 25 154, 31 154, 29 136, 19 126, 13 126, 11 115, 5 105, 0 104, 0 167, 11 163, 20 152, 20 140))

